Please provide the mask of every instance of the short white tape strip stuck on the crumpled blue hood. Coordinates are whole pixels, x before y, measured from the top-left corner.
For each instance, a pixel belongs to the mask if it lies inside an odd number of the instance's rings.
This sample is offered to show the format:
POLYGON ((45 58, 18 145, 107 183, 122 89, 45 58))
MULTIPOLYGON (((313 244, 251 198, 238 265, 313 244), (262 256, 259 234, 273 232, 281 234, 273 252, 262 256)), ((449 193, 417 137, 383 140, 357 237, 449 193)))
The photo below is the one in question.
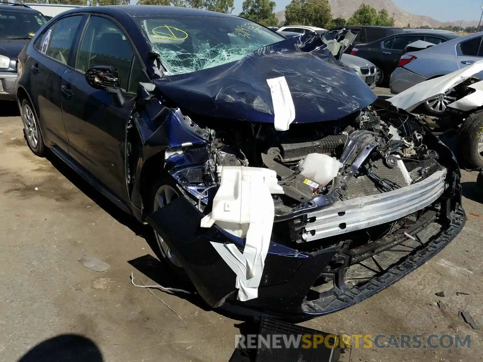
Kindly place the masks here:
POLYGON ((273 103, 275 129, 286 131, 295 119, 295 106, 285 77, 267 79, 273 103))

